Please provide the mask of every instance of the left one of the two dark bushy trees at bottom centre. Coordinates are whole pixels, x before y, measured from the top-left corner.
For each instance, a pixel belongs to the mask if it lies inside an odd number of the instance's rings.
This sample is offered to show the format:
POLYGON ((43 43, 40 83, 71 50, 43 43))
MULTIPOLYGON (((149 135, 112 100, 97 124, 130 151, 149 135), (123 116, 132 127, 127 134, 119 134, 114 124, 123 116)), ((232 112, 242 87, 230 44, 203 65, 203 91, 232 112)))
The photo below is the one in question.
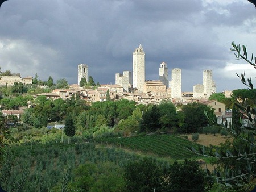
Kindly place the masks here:
POLYGON ((158 191, 162 183, 161 174, 156 161, 144 157, 142 160, 128 162, 124 177, 129 191, 158 191))

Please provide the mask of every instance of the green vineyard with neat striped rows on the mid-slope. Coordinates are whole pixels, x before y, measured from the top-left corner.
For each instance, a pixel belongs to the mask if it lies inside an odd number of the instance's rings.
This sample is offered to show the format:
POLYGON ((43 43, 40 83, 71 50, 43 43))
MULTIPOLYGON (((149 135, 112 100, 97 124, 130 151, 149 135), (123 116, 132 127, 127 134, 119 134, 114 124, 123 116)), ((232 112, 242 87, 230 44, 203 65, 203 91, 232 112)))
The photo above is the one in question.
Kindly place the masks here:
POLYGON ((186 149, 188 146, 193 146, 197 149, 200 146, 199 144, 173 135, 99 137, 94 139, 94 141, 101 144, 111 144, 115 147, 128 148, 134 152, 152 153, 160 157, 168 157, 175 160, 199 158, 195 153, 186 149))

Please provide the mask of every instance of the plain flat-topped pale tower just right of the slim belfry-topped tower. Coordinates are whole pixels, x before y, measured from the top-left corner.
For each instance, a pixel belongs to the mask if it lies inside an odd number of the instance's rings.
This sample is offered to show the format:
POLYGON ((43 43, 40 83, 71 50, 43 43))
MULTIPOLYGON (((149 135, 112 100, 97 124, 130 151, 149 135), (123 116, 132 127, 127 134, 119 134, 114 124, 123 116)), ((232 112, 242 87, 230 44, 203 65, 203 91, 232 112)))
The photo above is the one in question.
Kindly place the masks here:
POLYGON ((171 97, 181 98, 181 69, 172 69, 171 97))

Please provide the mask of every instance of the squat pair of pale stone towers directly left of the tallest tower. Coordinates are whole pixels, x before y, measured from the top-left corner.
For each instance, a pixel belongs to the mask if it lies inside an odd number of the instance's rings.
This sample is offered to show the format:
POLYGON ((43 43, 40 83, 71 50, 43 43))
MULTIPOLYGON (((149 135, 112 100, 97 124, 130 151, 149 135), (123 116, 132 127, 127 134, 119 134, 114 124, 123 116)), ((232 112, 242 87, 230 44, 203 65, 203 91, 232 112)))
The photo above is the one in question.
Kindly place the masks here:
POLYGON ((121 85, 123 90, 128 92, 133 84, 131 72, 124 71, 123 74, 115 73, 115 84, 121 85))

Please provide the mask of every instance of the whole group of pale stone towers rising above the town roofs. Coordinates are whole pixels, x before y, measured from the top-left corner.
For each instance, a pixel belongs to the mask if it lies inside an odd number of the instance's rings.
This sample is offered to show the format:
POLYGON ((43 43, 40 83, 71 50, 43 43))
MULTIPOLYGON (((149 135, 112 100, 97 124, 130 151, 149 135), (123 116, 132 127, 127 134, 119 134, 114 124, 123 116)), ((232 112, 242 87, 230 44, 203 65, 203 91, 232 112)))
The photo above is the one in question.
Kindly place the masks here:
MULTIPOLYGON (((88 81, 88 65, 78 65, 78 84, 81 78, 88 81)), ((145 52, 140 44, 133 52, 133 72, 124 71, 123 74, 115 73, 115 84, 123 86, 124 91, 129 89, 137 89, 138 93, 142 93, 145 84, 145 52)), ((160 64, 159 81, 171 88, 171 98, 181 98, 181 69, 172 69, 171 81, 168 85, 168 68, 165 62, 160 64)), ((209 97, 212 93, 216 93, 216 86, 212 80, 212 71, 204 70, 203 85, 197 84, 193 86, 194 97, 209 97)))

